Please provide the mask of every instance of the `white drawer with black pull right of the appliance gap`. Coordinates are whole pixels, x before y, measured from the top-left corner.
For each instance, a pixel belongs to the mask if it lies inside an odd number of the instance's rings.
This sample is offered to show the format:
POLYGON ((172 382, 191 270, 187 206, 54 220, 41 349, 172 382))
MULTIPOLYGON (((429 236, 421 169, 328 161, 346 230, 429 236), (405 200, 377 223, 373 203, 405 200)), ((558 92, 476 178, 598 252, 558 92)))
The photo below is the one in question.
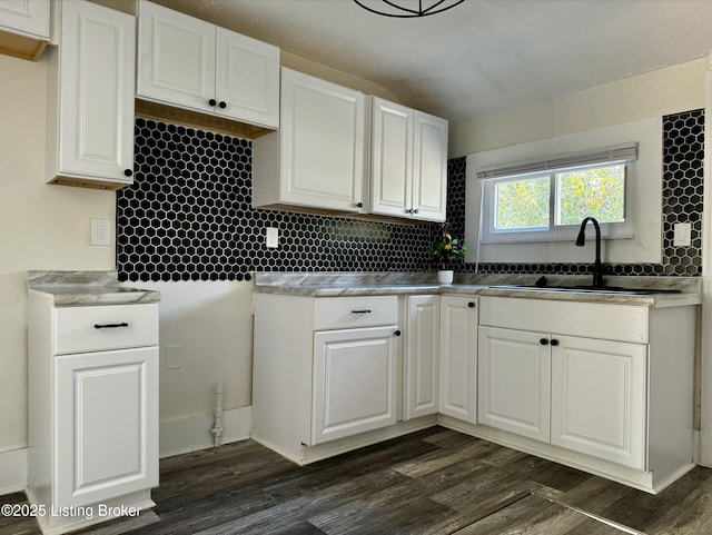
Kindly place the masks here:
POLYGON ((349 329, 398 323, 396 296, 320 297, 314 300, 314 330, 349 329))

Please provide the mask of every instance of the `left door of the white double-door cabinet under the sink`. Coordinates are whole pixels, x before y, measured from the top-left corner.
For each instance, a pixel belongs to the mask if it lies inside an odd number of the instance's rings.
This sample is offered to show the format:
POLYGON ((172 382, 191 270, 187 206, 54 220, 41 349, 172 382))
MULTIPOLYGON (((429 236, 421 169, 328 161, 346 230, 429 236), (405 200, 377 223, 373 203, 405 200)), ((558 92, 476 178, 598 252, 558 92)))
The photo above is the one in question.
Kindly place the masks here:
POLYGON ((479 327, 479 424, 548 443, 550 336, 479 327))

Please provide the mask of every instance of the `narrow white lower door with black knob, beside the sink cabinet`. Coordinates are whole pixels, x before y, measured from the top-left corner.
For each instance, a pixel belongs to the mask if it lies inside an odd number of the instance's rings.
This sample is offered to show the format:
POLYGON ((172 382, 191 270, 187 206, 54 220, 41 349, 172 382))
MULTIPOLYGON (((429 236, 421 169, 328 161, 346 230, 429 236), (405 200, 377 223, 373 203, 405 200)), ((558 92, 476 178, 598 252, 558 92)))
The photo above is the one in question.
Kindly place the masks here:
POLYGON ((439 412, 477 423, 477 301, 441 297, 439 412))

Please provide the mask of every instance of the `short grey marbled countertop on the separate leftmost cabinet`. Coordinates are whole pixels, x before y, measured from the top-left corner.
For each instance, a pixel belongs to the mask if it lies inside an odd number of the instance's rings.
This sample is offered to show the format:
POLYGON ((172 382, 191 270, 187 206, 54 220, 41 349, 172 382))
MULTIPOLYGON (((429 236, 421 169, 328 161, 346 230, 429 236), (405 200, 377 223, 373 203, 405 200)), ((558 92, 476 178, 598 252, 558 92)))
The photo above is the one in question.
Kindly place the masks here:
POLYGON ((116 271, 28 271, 28 291, 55 306, 135 305, 160 301, 160 293, 123 286, 116 271))

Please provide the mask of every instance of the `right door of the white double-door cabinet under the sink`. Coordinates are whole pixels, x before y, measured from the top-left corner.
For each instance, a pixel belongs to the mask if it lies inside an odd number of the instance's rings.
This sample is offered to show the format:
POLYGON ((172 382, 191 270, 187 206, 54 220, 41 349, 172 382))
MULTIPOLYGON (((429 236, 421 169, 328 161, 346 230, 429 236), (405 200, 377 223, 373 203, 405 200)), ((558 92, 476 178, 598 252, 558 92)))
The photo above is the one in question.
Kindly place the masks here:
POLYGON ((645 469, 647 346, 556 338, 551 443, 645 469))

